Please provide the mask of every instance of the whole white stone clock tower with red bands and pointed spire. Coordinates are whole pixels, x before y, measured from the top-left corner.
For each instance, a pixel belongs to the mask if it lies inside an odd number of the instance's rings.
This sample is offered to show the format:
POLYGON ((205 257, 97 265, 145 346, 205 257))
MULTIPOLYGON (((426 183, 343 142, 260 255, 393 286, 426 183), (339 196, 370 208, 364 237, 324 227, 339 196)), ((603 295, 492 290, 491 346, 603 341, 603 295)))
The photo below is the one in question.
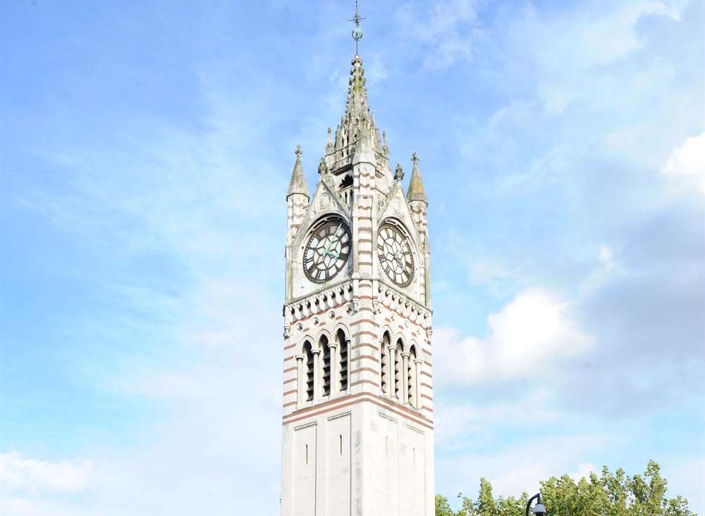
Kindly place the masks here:
POLYGON ((432 516, 427 198, 406 195, 355 55, 313 196, 286 196, 283 516, 432 516))

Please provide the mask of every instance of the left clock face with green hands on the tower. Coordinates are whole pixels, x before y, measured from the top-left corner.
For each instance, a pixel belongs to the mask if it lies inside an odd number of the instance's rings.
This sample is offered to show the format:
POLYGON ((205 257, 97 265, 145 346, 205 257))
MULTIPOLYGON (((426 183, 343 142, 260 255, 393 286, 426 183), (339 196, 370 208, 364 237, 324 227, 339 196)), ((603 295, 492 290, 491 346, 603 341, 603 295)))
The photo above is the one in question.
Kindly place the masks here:
POLYGON ((304 274, 314 283, 325 283, 343 270, 353 238, 342 220, 330 220, 314 231, 304 251, 304 274))

